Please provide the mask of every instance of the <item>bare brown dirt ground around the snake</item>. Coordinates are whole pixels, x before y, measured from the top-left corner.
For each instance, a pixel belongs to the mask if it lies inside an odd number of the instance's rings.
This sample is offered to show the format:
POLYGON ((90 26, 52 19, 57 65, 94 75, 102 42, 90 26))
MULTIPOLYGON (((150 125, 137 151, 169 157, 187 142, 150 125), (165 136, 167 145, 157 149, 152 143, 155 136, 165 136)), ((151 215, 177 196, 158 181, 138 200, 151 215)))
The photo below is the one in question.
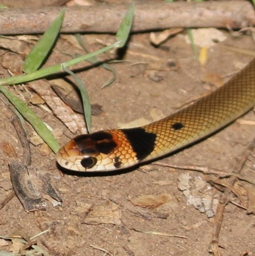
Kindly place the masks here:
MULTIPOLYGON (((208 48, 207 61, 203 66, 195 59, 185 32, 171 37, 157 48, 150 43, 149 33, 144 33, 132 35, 122 61, 109 64, 116 71, 116 80, 108 87, 100 89, 113 76, 102 67, 77 73, 89 91, 91 103, 99 104, 103 109, 99 115, 93 115, 92 131, 116 128, 119 123, 139 118, 152 121, 155 118, 151 111, 156 112, 156 119, 161 118, 210 93, 221 79, 229 79, 252 57, 235 53, 224 45, 252 50, 254 44, 250 35, 233 37, 228 31, 220 32, 225 40, 208 48)), ((70 37, 59 38, 45 65, 63 62, 70 55, 84 54, 70 37)), ((84 35, 83 38, 91 50, 102 46, 98 40, 106 44, 114 40, 112 35, 84 35)), ((32 44, 26 44, 32 47, 32 44)), ((18 65, 22 65, 19 54, 1 49, 2 61, 5 54, 12 55, 10 63, 5 64, 8 67, 18 69, 18 65)), ((114 53, 107 55, 112 57, 114 53)), ((84 63, 80 64, 82 66, 84 63)), ((1 66, 1 73, 8 76, 6 66, 1 66)), ((52 84, 53 81, 46 83, 52 84)), ((61 145, 80 133, 71 133, 52 111, 47 111, 47 103, 32 104, 36 95, 32 89, 25 90, 24 85, 15 88, 12 91, 27 102, 45 123, 54 130, 62 131, 57 137, 61 145)), ((49 94, 54 95, 55 92, 49 89, 49 94)), ((13 112, 3 101, 0 105, 2 202, 12 190, 8 163, 13 156, 8 154, 5 146, 11 145, 18 157, 22 156, 22 147, 11 123, 13 112)), ((63 175, 53 152, 45 155, 42 153, 45 152, 42 149, 44 145, 31 144, 32 166, 40 174, 50 176, 50 182, 58 189, 63 202, 54 205, 55 201, 42 191, 47 202, 46 210, 26 212, 14 196, 0 210, 0 236, 10 236, 16 230, 22 230, 22 234, 33 237, 48 229, 35 240, 37 246, 49 255, 209 255, 216 221, 214 214, 223 190, 222 187, 216 189, 207 180, 217 176, 163 167, 162 164, 207 166, 233 172, 238 157, 254 139, 254 125, 254 111, 250 111, 206 140, 156 164, 110 175, 77 176, 68 172, 63 175), (144 202, 145 195, 167 200, 159 206, 152 203, 154 207, 141 207, 139 205, 144 202), (143 202, 135 205, 138 198, 143 202)), ((27 125, 27 131, 30 138, 34 136, 30 125, 27 125)), ((253 151, 241 172, 250 180, 255 178, 254 156, 253 151)), ((249 203, 249 208, 254 208, 251 196, 253 193, 254 198, 254 185, 237 181, 235 188, 243 198, 244 206, 249 203)), ((222 255, 255 255, 255 217, 240 206, 241 202, 234 194, 231 201, 233 203, 228 203, 225 208, 220 231, 222 255)), ((0 251, 15 252, 15 246, 11 241, 0 239, 0 251)))

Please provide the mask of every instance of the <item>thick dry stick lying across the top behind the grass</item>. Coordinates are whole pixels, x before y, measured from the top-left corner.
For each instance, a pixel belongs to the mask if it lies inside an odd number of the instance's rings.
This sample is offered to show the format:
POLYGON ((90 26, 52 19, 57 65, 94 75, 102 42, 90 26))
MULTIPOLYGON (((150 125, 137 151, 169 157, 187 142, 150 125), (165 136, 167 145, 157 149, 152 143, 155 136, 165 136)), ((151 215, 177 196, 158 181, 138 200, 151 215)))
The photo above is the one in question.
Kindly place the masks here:
MULTIPOLYGON (((129 5, 66 8, 61 32, 115 33, 129 5)), ((61 7, 0 10, 0 34, 43 33, 61 7)), ((248 1, 147 2, 135 5, 133 32, 173 27, 244 28, 255 25, 255 12, 248 1)))

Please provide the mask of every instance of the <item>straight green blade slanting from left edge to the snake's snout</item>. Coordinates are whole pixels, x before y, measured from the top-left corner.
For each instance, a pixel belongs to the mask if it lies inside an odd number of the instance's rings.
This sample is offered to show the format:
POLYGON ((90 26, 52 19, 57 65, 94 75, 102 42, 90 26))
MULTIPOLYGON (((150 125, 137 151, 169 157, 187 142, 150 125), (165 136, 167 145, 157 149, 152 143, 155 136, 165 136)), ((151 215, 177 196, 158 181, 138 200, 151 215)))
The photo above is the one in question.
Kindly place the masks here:
POLYGON ((22 114, 23 118, 27 120, 43 139, 43 141, 52 149, 54 153, 57 153, 60 146, 49 131, 47 126, 41 121, 40 118, 32 111, 23 101, 13 95, 7 88, 0 86, 0 91, 8 98, 8 100, 14 105, 14 107, 22 114))

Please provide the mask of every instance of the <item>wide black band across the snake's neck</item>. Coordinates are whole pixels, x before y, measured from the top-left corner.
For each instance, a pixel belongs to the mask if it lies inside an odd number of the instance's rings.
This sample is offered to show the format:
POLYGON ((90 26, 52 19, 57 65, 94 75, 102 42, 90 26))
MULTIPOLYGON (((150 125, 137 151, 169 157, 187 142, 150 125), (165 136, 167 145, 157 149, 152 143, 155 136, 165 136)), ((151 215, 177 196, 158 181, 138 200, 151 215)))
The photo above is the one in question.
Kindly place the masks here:
POLYGON ((143 128, 121 129, 126 135, 132 148, 136 152, 138 160, 148 156, 155 147, 156 134, 146 132, 143 128))

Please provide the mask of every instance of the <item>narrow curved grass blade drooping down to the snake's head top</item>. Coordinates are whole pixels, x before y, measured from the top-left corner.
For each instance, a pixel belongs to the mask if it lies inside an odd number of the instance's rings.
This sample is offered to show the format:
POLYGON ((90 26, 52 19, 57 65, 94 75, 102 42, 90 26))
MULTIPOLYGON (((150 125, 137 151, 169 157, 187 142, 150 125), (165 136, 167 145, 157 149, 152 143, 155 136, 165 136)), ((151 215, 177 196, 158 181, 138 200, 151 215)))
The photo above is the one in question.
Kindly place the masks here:
POLYGON ((66 73, 68 73, 75 79, 77 86, 81 92, 85 122, 87 125, 88 132, 90 133, 90 131, 91 131, 91 104, 90 104, 90 100, 89 100, 88 91, 86 90, 85 85, 82 82, 82 80, 77 75, 75 75, 73 72, 71 72, 69 69, 67 69, 64 65, 63 65, 63 69, 66 73))

